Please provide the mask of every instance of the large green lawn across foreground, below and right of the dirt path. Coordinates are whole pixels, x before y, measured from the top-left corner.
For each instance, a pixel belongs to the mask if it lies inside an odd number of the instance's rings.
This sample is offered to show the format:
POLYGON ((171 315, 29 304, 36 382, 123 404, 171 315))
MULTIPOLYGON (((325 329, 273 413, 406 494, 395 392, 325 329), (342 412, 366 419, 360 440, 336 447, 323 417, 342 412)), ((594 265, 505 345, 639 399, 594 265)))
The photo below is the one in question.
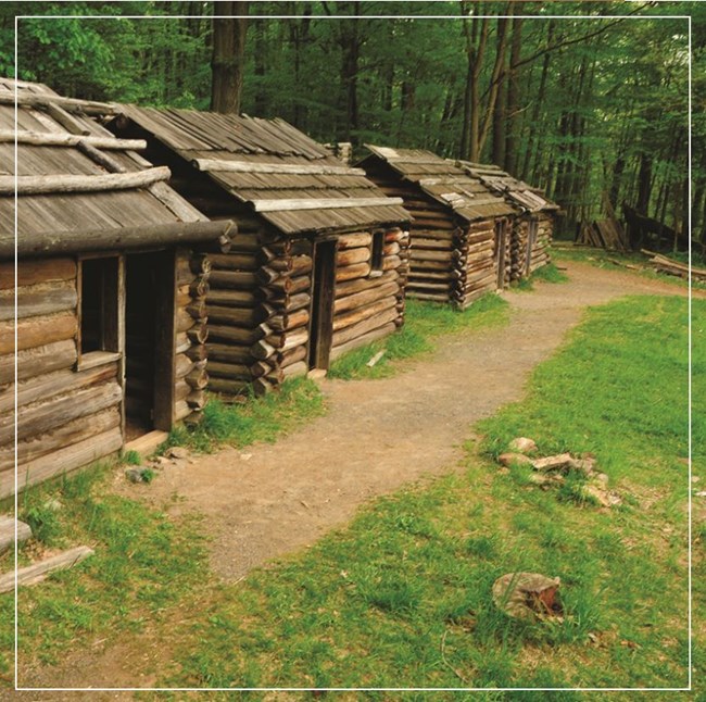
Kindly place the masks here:
MULTIPOLYGON (((694 473, 704 476, 706 303, 693 312, 694 473)), ((23 594, 23 655, 51 660, 149 626, 169 652, 159 682, 172 687, 684 685, 685 313, 671 298, 591 310, 538 367, 527 399, 476 427, 484 438, 466 444, 461 469, 376 500, 238 584, 209 575, 192 525, 67 481, 61 500, 78 503, 70 521, 84 525, 72 539, 105 553, 23 594), (600 509, 576 499, 579 484, 543 491, 522 466, 499 469, 495 455, 518 435, 542 453, 592 451, 625 504, 600 509), (88 518, 96 502, 100 518, 88 518), (562 578, 564 622, 521 623, 494 607, 493 581, 520 569, 562 578)), ((530 695, 489 699, 516 698, 530 695)))

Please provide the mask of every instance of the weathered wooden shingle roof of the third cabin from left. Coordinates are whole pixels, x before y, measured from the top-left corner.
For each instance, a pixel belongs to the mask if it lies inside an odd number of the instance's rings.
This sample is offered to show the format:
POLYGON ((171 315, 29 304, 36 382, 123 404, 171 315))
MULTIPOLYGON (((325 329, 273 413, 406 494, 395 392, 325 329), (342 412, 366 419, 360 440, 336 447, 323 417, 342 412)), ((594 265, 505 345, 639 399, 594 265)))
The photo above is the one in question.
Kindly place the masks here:
POLYGON ((403 179, 415 184, 468 222, 516 213, 504 198, 431 151, 365 146, 403 179))

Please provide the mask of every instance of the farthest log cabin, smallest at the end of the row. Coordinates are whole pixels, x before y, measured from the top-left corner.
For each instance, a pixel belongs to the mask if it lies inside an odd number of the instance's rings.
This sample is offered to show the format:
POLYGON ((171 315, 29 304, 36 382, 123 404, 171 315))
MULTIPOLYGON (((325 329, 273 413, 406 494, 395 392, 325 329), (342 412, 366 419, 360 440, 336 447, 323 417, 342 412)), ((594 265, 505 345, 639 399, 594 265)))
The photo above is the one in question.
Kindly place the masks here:
POLYGON ((518 211, 510 233, 510 280, 529 277, 551 262, 550 247, 559 205, 542 190, 517 180, 500 166, 455 161, 471 178, 505 198, 518 211))

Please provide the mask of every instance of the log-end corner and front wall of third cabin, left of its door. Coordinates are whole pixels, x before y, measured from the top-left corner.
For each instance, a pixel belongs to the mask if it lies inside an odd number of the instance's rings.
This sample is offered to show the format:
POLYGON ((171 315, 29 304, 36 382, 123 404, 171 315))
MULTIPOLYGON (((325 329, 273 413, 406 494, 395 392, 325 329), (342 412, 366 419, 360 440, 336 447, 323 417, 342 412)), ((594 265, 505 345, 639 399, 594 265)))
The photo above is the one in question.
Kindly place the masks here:
POLYGON ((452 271, 455 286, 452 294, 458 308, 465 309, 474 300, 496 289, 494 247, 493 220, 483 220, 465 229, 456 229, 452 271))

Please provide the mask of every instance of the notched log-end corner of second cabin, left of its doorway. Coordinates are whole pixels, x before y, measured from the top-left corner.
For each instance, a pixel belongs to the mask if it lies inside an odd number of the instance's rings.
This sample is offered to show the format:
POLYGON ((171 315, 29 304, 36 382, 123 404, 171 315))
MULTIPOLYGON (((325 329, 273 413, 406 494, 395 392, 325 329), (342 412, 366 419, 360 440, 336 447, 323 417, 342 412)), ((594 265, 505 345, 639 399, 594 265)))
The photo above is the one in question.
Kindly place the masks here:
POLYGON ((253 321, 262 336, 251 347, 250 367, 259 394, 307 371, 312 242, 277 238, 267 242, 261 256, 265 263, 255 278, 265 302, 255 309, 253 321))

